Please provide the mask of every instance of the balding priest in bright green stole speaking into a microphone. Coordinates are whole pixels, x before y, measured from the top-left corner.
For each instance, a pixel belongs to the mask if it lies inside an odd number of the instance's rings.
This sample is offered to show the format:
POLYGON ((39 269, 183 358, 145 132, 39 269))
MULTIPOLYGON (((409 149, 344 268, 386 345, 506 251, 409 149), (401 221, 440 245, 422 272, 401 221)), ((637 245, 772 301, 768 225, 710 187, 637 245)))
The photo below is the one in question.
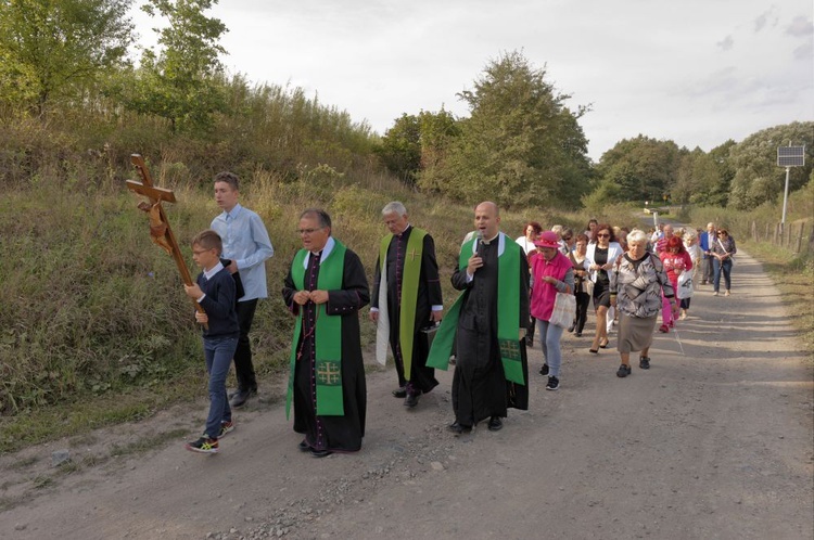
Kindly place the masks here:
POLYGON ((497 205, 478 205, 475 237, 461 246, 453 275, 453 286, 462 294, 442 322, 428 359, 428 365, 446 369, 456 339, 455 422, 449 426, 455 433, 486 419, 487 427, 498 430, 509 407, 529 407, 529 265, 499 223, 497 205))

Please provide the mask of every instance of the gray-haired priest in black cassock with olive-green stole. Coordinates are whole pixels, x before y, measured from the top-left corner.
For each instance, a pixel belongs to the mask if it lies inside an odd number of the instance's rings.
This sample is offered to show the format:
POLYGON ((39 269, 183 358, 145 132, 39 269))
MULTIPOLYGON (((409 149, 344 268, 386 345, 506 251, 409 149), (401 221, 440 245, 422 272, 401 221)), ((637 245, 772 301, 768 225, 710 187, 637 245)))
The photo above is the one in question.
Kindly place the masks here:
POLYGON ((394 201, 382 209, 390 233, 379 245, 370 320, 377 323, 377 360, 384 364, 387 345, 398 374, 393 396, 407 408, 438 382, 427 367, 429 338, 422 330, 441 320, 441 297, 435 243, 424 230, 410 224, 407 208, 394 201))

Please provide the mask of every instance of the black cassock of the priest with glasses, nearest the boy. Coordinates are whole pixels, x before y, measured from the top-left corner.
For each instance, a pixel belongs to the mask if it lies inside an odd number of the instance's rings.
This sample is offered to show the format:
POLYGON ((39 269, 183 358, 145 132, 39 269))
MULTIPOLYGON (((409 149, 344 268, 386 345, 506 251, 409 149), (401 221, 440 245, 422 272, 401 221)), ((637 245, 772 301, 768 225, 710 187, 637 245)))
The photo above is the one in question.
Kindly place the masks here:
MULTIPOLYGON (((294 430, 305 434, 306 442, 315 450, 355 452, 361 448, 365 436, 367 387, 365 365, 359 337, 359 309, 370 300, 365 268, 359 257, 345 250, 342 288, 329 291, 326 305, 328 317, 342 318, 342 402, 343 416, 317 415, 315 383, 315 324, 317 306, 309 301, 305 306, 294 303, 297 288, 291 275, 285 277, 282 295, 293 313, 303 309, 303 329, 296 345, 297 360, 294 368, 294 430)), ((305 288, 315 291, 319 277, 318 257, 309 257, 305 271, 305 288)))

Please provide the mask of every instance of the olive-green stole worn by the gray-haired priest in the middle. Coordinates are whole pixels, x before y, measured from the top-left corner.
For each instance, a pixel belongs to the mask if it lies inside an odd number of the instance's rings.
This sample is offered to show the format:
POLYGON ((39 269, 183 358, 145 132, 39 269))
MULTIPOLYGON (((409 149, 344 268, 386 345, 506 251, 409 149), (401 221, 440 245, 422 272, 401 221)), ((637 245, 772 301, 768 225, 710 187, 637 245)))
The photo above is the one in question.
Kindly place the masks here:
MULTIPOLYGON (((398 312, 398 343, 402 347, 404 361, 404 376, 410 380, 412 373, 412 343, 416 332, 416 303, 418 301, 418 280, 421 275, 421 256, 424 248, 427 231, 412 228, 407 240, 407 253, 404 258, 404 275, 402 278, 402 306, 398 312)), ((387 248, 392 234, 382 239, 379 247, 379 269, 384 274, 387 271, 387 248)), ((389 283, 387 286, 396 284, 389 283)))

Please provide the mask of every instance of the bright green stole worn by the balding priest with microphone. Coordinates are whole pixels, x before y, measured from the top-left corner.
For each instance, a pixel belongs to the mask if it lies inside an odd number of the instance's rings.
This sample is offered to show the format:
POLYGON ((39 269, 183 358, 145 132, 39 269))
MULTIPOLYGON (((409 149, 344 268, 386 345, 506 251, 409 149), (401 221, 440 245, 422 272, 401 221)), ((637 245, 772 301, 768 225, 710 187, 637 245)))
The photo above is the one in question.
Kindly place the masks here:
MULTIPOLYGON (((500 233, 504 253, 497 259, 497 342, 500 347, 500 360, 507 381, 525 385, 523 364, 520 357, 520 245, 500 233)), ((496 239, 497 240, 497 239, 496 239)), ((472 256, 475 239, 461 246, 458 268, 466 270, 472 256)), ((475 277, 478 274, 475 273, 475 277)), ((476 278, 475 278, 476 279, 476 278)), ((453 350, 458 318, 466 291, 458 296, 449 312, 441 321, 435 338, 430 348, 427 365, 441 370, 449 364, 449 352, 453 350)))

